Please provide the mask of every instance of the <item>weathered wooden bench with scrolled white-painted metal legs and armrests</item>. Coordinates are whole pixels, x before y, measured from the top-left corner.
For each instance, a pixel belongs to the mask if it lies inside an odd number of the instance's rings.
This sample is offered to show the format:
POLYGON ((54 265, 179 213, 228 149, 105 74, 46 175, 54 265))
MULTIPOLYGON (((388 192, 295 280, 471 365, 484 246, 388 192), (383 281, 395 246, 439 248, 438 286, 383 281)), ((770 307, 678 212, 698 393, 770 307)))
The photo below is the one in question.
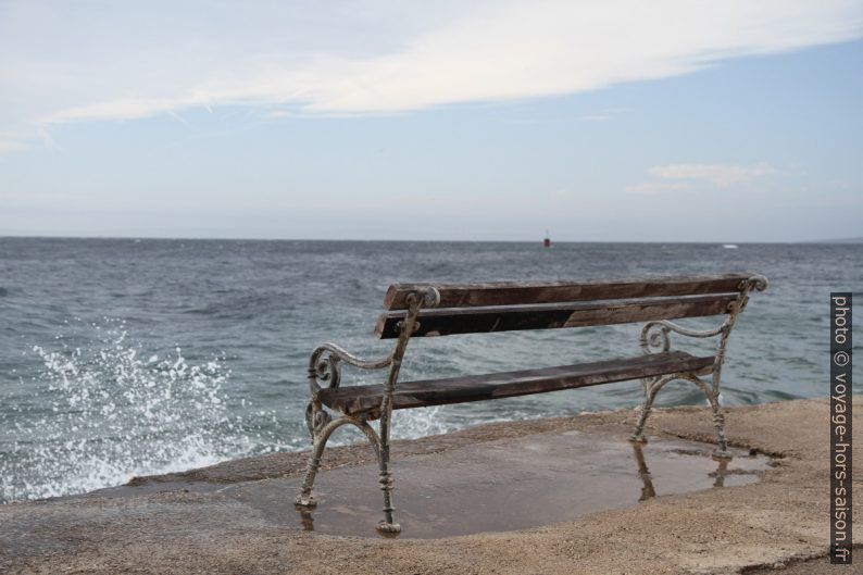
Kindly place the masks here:
POLYGON ((334 343, 315 348, 309 361, 312 398, 307 424, 312 452, 300 495, 302 508, 316 504, 312 486, 327 439, 341 425, 359 427, 372 442, 380 470, 384 520, 378 529, 398 533, 393 520, 392 474, 389 465, 392 410, 462 403, 640 379, 645 403, 633 434, 643 440, 645 422, 659 390, 668 382, 692 382, 713 411, 716 455, 727 458, 724 418, 718 402, 722 365, 728 335, 753 289, 767 287, 760 275, 726 274, 693 277, 648 277, 573 282, 500 282, 485 284, 396 284, 389 287, 375 335, 396 339, 386 357, 358 358, 334 343), (725 315, 714 329, 689 329, 670 320, 725 315), (647 322, 641 329, 641 354, 573 365, 517 372, 465 375, 398 383, 399 370, 412 338, 479 334, 515 329, 550 329, 647 322), (672 351, 670 334, 718 336, 713 355, 672 351), (388 367, 380 385, 341 387, 341 364, 364 370, 388 367), (704 379, 702 376, 711 376, 704 379), (326 408, 341 413, 333 418, 326 408), (379 420, 379 430, 368 422, 379 420))

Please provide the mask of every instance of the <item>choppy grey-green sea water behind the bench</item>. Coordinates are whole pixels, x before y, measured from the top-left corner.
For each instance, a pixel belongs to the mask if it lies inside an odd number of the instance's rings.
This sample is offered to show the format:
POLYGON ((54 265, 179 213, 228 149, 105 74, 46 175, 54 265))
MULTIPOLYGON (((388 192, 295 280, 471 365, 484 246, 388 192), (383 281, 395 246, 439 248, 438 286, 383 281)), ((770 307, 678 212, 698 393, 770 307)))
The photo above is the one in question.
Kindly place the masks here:
MULTIPOLYGON (((0 502, 307 448, 309 352, 332 340, 386 353, 391 342, 372 330, 390 283, 747 270, 771 287, 752 296, 731 335, 723 402, 826 395, 828 296, 860 291, 860 246, 0 238, 0 502)), ((680 337, 673 345, 710 350, 680 337)), ((416 339, 402 379, 638 352, 633 325, 416 339)), ((342 385, 383 375, 346 366, 342 385)), ((393 435, 640 398, 629 382, 409 410, 396 412, 393 435)), ((704 402, 686 383, 660 395, 665 405, 704 402)))

